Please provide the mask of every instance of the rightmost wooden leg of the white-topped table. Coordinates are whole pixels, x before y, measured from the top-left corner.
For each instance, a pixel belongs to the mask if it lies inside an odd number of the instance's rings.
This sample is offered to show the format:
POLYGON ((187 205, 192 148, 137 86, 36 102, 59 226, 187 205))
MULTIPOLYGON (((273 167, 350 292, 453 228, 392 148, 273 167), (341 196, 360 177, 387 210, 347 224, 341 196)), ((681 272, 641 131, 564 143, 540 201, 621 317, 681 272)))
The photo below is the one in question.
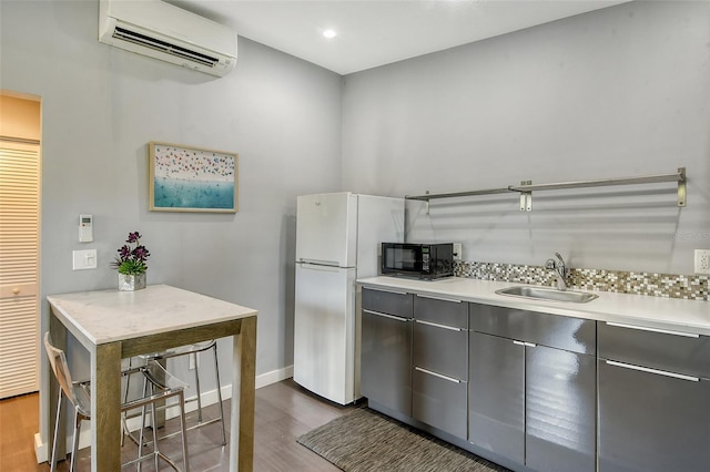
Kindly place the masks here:
POLYGON ((242 319, 233 352, 230 471, 251 472, 254 466, 256 317, 242 319))

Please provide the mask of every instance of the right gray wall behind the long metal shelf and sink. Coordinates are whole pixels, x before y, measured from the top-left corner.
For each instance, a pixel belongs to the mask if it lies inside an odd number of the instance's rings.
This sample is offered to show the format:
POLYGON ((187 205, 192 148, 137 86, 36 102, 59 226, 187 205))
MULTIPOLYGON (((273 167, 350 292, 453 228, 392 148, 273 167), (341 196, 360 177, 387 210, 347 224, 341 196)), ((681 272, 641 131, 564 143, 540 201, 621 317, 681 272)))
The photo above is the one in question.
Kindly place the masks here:
POLYGON ((464 259, 692 274, 710 247, 710 3, 632 2, 345 78, 343 187, 418 195, 688 172, 672 184, 407 204, 464 259))

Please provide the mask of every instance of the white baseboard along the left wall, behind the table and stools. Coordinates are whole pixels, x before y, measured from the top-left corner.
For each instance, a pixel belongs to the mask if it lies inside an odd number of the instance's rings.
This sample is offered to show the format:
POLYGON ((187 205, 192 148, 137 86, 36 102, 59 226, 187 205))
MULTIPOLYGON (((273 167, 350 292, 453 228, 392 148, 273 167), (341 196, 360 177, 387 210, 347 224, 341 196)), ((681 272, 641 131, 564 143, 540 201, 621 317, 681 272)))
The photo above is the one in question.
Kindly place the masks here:
MULTIPOLYGON (((262 373, 256 376, 255 386, 256 389, 261 389, 262 387, 271 386, 272 383, 281 382, 282 380, 286 380, 293 377, 293 365, 287 366, 283 369, 272 370, 271 372, 262 373)), ((232 398, 232 384, 222 387, 222 400, 227 400, 232 398)), ((202 392, 201 394, 202 406, 209 407, 211 404, 215 404, 217 402, 217 391, 210 390, 209 392, 202 392)), ((185 399, 185 413, 190 413, 197 409, 196 397, 191 397, 185 399)), ((165 419, 175 418, 180 414, 180 409, 178 407, 170 407, 165 410, 165 419)), ((138 430, 141 421, 138 418, 132 418, 128 421, 128 427, 130 431, 138 430)), ((71 444, 73 441, 73 435, 67 437, 67 451, 71 451, 71 444)), ((81 429, 79 435, 79 449, 88 448, 91 444, 91 425, 85 425, 81 429)), ((50 450, 49 445, 45 441, 42 441, 40 433, 34 434, 34 455, 37 456, 37 463, 42 463, 49 461, 50 450)))

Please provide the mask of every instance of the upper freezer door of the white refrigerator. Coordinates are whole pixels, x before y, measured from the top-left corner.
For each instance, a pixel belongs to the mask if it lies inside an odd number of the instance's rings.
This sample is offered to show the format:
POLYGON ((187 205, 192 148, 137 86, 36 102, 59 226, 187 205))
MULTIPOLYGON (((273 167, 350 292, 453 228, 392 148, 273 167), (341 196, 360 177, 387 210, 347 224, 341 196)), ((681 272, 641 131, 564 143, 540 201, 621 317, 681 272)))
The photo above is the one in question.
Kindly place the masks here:
POLYGON ((348 192, 300 196, 296 261, 355 267, 357 196, 348 192))

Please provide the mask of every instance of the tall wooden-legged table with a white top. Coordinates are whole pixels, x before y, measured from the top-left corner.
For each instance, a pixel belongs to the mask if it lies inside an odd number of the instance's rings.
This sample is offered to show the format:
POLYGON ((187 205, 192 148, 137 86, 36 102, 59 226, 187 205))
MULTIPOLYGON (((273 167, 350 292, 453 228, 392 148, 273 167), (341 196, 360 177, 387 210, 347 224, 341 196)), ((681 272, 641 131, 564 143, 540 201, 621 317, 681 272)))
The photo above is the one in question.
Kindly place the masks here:
MULTIPOLYGON (((230 471, 252 470, 256 310, 168 285, 53 295, 47 300, 54 343, 65 349, 70 331, 91 355, 92 471, 121 469, 121 359, 227 336, 234 342, 230 471)), ((59 392, 50 378, 48 444, 59 392)), ((59 444, 64 444, 60 430, 59 444)))

